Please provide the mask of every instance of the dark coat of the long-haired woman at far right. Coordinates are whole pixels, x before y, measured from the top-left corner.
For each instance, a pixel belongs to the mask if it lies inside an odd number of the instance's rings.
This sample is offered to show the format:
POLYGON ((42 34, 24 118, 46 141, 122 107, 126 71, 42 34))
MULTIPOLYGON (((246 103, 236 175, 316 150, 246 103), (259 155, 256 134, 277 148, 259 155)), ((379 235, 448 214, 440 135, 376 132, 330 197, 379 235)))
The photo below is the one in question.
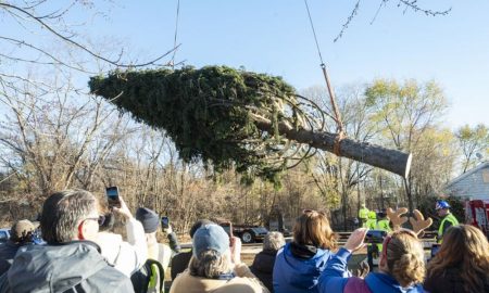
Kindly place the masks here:
MULTIPOLYGON (((461 278, 460 268, 447 268, 441 275, 427 277, 423 286, 430 293, 468 293, 464 289, 464 280, 461 278)), ((487 276, 480 276, 486 278, 487 276)), ((486 283, 486 289, 481 292, 489 292, 489 281, 486 283)))

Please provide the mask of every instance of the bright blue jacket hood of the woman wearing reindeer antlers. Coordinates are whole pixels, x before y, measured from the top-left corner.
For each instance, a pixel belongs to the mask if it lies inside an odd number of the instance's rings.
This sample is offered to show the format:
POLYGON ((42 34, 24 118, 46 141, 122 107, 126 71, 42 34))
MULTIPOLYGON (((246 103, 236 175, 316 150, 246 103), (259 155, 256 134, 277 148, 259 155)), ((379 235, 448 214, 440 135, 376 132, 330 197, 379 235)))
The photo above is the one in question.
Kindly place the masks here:
POLYGON ((423 293, 421 284, 403 288, 391 276, 383 272, 371 272, 365 277, 365 282, 372 292, 383 293, 423 293))

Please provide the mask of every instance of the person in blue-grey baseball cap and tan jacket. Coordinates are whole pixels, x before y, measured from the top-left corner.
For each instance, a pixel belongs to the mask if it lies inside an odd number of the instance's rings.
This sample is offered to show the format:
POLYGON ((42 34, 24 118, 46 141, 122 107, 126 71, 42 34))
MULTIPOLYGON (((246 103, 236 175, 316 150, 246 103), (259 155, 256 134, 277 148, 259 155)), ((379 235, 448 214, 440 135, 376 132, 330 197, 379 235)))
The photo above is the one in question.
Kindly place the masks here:
POLYGON ((171 293, 197 292, 268 292, 260 280, 241 263, 241 242, 229 237, 215 224, 199 228, 192 239, 193 255, 188 270, 173 281, 171 293))

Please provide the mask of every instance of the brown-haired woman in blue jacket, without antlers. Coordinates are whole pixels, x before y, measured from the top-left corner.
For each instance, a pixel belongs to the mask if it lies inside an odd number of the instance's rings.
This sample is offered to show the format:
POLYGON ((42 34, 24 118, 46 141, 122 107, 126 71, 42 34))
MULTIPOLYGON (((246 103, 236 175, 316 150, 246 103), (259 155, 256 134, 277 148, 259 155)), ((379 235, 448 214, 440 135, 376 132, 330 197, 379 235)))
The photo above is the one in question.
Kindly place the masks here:
POLYGON ((315 290, 326 262, 336 247, 336 237, 326 215, 304 211, 293 227, 293 241, 278 251, 273 283, 276 293, 311 292, 315 290))

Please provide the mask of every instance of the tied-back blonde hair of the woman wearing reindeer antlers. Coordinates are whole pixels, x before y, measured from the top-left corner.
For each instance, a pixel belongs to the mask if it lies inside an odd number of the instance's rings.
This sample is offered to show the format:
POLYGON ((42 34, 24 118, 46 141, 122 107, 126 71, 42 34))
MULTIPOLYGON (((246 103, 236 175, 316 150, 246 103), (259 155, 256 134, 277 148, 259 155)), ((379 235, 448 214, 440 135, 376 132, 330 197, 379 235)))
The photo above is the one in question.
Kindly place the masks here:
POLYGON ((423 282, 426 272, 425 253, 413 231, 400 229, 392 232, 384 246, 388 272, 402 286, 423 282))

